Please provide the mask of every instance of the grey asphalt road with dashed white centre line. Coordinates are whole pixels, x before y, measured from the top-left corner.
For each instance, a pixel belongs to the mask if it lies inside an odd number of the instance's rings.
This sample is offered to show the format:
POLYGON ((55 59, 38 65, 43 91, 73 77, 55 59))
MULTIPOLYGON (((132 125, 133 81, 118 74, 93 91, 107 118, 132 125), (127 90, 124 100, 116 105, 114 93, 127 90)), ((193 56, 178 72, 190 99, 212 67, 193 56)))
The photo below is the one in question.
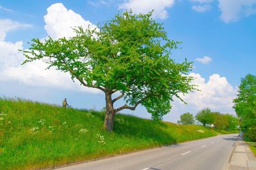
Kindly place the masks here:
POLYGON ((226 169, 236 140, 237 134, 221 135, 61 169, 221 170, 226 169))

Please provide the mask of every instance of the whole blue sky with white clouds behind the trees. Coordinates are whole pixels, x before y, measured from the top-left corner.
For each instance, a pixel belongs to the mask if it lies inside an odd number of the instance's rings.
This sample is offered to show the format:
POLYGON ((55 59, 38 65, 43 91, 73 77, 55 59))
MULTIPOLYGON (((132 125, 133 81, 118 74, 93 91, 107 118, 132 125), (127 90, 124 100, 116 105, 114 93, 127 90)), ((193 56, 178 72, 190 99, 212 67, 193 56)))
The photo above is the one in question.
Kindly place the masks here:
MULTIPOLYGON (((33 38, 74 36, 71 27, 111 20, 132 9, 163 23, 168 38, 182 41, 172 59, 193 62, 189 73, 200 91, 175 99, 164 121, 177 122, 182 113, 204 108, 236 115, 232 106, 237 86, 246 74, 255 74, 256 0, 0 0, 0 97, 61 104, 67 98, 74 108, 101 110, 104 94, 82 87, 66 73, 36 61, 20 65, 22 52, 33 38)), ((122 101, 116 103, 121 105, 122 101)), ((150 118, 142 106, 122 113, 150 118)))

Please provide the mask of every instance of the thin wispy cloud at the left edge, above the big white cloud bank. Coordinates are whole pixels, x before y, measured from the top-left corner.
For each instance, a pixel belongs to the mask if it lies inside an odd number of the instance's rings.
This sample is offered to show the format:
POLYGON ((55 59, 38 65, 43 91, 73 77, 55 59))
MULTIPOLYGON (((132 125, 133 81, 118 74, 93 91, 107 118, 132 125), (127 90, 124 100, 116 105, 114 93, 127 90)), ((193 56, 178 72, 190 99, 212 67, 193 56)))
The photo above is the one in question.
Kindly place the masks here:
POLYGON ((31 27, 30 24, 20 24, 19 22, 9 20, 9 19, 0 19, 0 41, 4 41, 6 37, 6 32, 13 31, 20 28, 31 27))

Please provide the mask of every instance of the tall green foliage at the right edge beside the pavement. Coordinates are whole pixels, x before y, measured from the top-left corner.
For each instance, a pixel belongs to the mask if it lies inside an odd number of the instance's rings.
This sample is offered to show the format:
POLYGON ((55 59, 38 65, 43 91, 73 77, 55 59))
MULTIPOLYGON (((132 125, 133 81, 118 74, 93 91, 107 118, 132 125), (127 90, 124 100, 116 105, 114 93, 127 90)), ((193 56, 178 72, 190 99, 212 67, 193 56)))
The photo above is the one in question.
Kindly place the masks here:
POLYGON ((234 99, 234 108, 241 120, 241 127, 248 137, 252 131, 250 128, 256 123, 256 76, 247 74, 241 79, 237 98, 234 99))

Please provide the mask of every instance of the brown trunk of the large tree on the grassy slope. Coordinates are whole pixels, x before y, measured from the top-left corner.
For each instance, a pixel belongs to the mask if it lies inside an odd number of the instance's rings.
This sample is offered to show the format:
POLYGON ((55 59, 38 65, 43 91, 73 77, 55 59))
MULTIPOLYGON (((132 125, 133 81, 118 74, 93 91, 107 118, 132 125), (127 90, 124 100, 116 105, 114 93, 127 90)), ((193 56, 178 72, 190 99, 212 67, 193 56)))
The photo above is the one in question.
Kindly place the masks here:
POLYGON ((115 120, 115 111, 113 108, 113 103, 111 99, 111 92, 105 93, 106 99, 106 115, 104 119, 103 129, 106 129, 108 132, 113 131, 113 122, 115 120))

